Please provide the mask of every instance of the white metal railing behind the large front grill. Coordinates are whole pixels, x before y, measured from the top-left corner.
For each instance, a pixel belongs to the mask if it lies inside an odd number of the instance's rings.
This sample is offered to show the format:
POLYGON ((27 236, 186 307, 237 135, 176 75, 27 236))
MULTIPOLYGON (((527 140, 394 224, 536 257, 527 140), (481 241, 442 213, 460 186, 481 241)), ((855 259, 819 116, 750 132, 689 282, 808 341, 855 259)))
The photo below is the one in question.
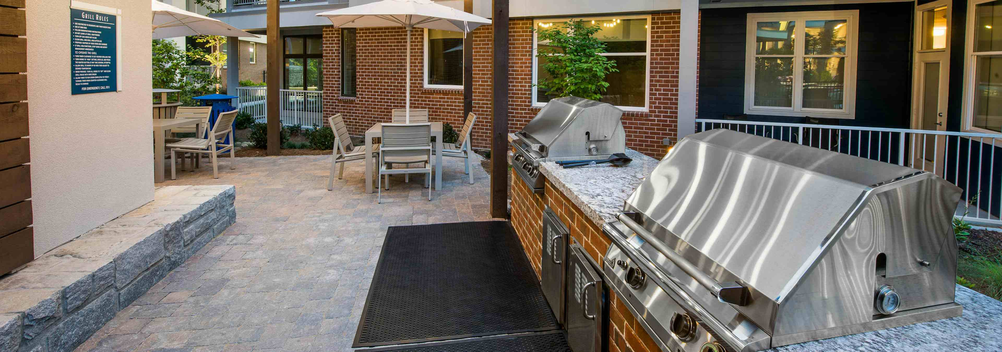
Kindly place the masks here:
MULTIPOLYGON (((901 128, 696 119, 696 132, 726 128, 935 172, 965 190, 966 218, 1002 224, 1002 141, 998 134, 901 128), (998 154, 998 155, 996 155, 998 154), (999 159, 996 163, 996 159, 999 159)), ((963 207, 962 207, 963 208, 963 207)), ((958 216, 964 210, 958 210, 958 216)))

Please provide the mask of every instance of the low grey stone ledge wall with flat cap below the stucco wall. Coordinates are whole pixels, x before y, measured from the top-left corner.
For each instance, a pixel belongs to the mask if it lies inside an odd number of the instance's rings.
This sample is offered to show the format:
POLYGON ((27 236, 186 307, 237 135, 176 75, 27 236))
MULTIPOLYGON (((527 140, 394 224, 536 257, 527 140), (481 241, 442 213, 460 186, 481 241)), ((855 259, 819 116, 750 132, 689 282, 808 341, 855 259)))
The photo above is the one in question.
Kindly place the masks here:
POLYGON ((0 278, 0 352, 72 351, 236 220, 236 189, 167 186, 153 201, 0 278))

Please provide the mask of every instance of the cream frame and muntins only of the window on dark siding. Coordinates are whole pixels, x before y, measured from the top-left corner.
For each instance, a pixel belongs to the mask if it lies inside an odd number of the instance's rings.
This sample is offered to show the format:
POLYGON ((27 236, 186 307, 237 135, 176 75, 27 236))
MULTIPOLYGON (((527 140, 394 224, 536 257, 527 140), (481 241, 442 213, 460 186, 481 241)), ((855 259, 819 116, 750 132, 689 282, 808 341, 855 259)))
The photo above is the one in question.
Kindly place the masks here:
POLYGON ((841 10, 841 11, 801 11, 801 12, 768 12, 768 13, 748 13, 745 20, 745 35, 744 35, 744 113, 749 115, 773 115, 773 116, 791 116, 791 117, 823 117, 823 118, 838 118, 838 119, 855 119, 856 118, 856 78, 857 78, 857 59, 859 58, 857 48, 859 47, 859 10, 841 10), (765 57, 791 57, 794 58, 794 90, 792 107, 769 107, 769 106, 754 106, 755 103, 755 58, 757 57, 755 53, 755 36, 757 33, 756 25, 758 22, 770 21, 770 20, 785 20, 785 21, 797 21, 801 25, 797 26, 796 34, 800 35, 801 38, 805 38, 805 31, 807 27, 807 21, 821 21, 821 20, 839 20, 845 19, 846 25, 849 27, 846 33, 846 69, 845 69, 845 80, 843 86, 843 108, 841 110, 835 109, 818 109, 818 108, 804 108, 801 105, 804 104, 801 99, 803 96, 804 89, 804 58, 810 57, 832 57, 833 55, 806 55, 804 53, 804 40, 798 40, 794 44, 794 54, 792 55, 766 55, 765 57), (798 60, 800 59, 800 60, 798 60))

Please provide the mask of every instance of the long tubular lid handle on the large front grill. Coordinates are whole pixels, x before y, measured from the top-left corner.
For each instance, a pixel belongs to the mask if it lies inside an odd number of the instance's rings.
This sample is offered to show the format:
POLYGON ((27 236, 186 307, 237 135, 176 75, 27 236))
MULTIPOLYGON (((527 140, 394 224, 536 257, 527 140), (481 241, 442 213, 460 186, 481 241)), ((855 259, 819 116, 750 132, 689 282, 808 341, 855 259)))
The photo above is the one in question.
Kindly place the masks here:
POLYGON ((668 258, 668 260, 674 263, 675 266, 682 269, 685 274, 692 277, 692 279, 695 279, 699 285, 709 290, 709 293, 712 294, 713 297, 716 297, 716 299, 720 302, 730 303, 736 306, 746 306, 749 303, 748 301, 750 300, 752 294, 748 292, 746 287, 733 281, 723 283, 716 282, 716 280, 713 280, 713 278, 709 277, 709 275, 704 274, 701 270, 699 270, 699 268, 696 268, 695 265, 689 263, 688 260, 685 260, 685 258, 683 258, 680 254, 665 246, 664 243, 661 243, 661 241, 655 238, 650 231, 647 231, 647 229, 644 229, 640 226, 640 224, 637 224, 636 221, 633 221, 629 215, 619 213, 619 215, 616 216, 616 219, 619 219, 623 225, 626 225, 626 227, 636 233, 637 236, 640 236, 644 242, 647 242, 647 244, 660 252, 661 255, 668 258))

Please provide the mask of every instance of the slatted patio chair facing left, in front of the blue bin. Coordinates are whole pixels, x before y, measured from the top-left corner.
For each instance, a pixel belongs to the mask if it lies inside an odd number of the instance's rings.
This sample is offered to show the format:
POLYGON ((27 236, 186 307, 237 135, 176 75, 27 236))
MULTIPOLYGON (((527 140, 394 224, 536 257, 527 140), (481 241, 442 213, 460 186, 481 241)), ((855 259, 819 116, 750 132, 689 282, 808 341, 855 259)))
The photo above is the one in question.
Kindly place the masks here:
POLYGON ((215 119, 215 125, 208 132, 208 138, 184 138, 179 142, 167 144, 170 149, 170 179, 177 179, 177 165, 174 164, 175 153, 194 153, 196 159, 201 158, 201 154, 208 154, 212 160, 212 178, 219 178, 218 155, 229 152, 229 169, 236 168, 236 152, 233 150, 233 120, 236 119, 237 110, 220 113, 215 119), (229 136, 230 144, 222 144, 222 140, 229 136), (218 147, 222 147, 221 149, 218 147))

